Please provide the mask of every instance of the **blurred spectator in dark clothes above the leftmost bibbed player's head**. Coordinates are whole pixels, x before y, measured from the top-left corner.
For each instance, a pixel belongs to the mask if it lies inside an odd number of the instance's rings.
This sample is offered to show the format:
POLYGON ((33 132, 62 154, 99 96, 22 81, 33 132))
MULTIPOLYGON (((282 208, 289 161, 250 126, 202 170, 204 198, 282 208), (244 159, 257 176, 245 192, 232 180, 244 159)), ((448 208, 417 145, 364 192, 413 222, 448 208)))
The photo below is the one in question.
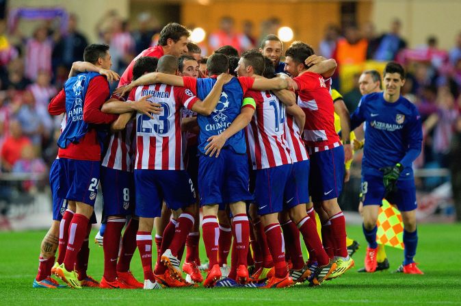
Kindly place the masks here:
POLYGON ((88 45, 86 37, 77 29, 78 18, 70 14, 67 32, 60 37, 53 48, 53 67, 65 66, 70 69, 73 62, 83 60, 83 50, 88 45))

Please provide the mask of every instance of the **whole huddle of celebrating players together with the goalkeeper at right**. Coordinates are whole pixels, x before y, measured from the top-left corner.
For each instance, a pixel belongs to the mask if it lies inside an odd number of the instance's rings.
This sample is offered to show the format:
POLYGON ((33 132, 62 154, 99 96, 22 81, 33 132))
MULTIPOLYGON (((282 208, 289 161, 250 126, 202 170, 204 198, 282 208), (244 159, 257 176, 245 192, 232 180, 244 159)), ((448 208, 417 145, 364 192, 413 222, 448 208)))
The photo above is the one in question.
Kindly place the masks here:
MULTIPOLYGON (((105 44, 91 44, 85 62, 73 64, 49 104, 49 113, 64 119, 50 171, 53 225, 42 241, 34 287, 60 287, 51 278, 56 275, 72 288, 283 288, 303 281, 319 285, 354 266, 337 202, 352 148, 349 133, 341 142, 334 129, 330 77, 336 62, 304 42, 293 42, 280 62, 282 42, 269 35, 261 49, 239 59, 230 46, 218 49, 204 74, 188 37, 182 25, 166 25, 158 45, 140 53, 121 77, 109 70, 105 44), (119 78, 111 94, 109 81, 119 78), (106 222, 101 282, 86 274, 99 184, 106 222), (209 260, 205 279, 199 207, 209 260), (130 271, 136 248, 144 283, 130 271)), ((377 270, 378 207, 391 196, 404 216, 401 272, 422 273, 413 261, 411 168, 421 150, 421 120, 400 96, 403 68, 389 63, 383 81, 384 93, 375 86, 376 93, 342 118, 350 131, 365 122, 365 270, 377 270)))

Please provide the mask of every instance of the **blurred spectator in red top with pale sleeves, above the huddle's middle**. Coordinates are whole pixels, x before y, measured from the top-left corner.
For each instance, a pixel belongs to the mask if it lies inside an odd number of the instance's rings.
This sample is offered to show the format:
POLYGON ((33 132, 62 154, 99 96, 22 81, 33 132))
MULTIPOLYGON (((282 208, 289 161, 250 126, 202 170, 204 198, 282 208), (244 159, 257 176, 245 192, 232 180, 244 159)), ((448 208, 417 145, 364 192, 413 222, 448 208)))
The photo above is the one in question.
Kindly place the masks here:
POLYGON ((228 44, 237 49, 239 53, 251 48, 251 42, 246 36, 235 33, 234 19, 229 16, 221 18, 220 29, 210 34, 209 44, 213 50, 228 44))

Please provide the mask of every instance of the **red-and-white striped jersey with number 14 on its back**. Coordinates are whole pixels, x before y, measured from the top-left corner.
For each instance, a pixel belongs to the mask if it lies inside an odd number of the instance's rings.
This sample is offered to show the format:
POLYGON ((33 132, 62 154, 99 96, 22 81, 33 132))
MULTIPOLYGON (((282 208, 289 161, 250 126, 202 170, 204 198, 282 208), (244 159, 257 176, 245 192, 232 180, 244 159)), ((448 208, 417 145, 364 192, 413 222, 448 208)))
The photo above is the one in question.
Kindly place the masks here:
POLYGON ((246 97, 256 102, 256 111, 245 130, 253 169, 291 164, 285 138, 285 105, 269 91, 249 90, 246 97))

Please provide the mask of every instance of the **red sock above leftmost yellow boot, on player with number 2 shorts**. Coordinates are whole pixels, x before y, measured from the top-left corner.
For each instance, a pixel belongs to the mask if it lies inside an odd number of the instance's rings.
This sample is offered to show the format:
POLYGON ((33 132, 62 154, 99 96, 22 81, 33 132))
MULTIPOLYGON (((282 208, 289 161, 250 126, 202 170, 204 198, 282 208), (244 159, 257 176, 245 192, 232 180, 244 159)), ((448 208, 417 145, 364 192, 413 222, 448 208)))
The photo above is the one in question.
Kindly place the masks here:
POLYGON ((81 214, 74 214, 70 221, 68 231, 68 242, 66 248, 66 257, 64 257, 64 266, 66 270, 73 271, 75 262, 77 262, 77 254, 83 244, 83 240, 88 233, 88 218, 81 214))

